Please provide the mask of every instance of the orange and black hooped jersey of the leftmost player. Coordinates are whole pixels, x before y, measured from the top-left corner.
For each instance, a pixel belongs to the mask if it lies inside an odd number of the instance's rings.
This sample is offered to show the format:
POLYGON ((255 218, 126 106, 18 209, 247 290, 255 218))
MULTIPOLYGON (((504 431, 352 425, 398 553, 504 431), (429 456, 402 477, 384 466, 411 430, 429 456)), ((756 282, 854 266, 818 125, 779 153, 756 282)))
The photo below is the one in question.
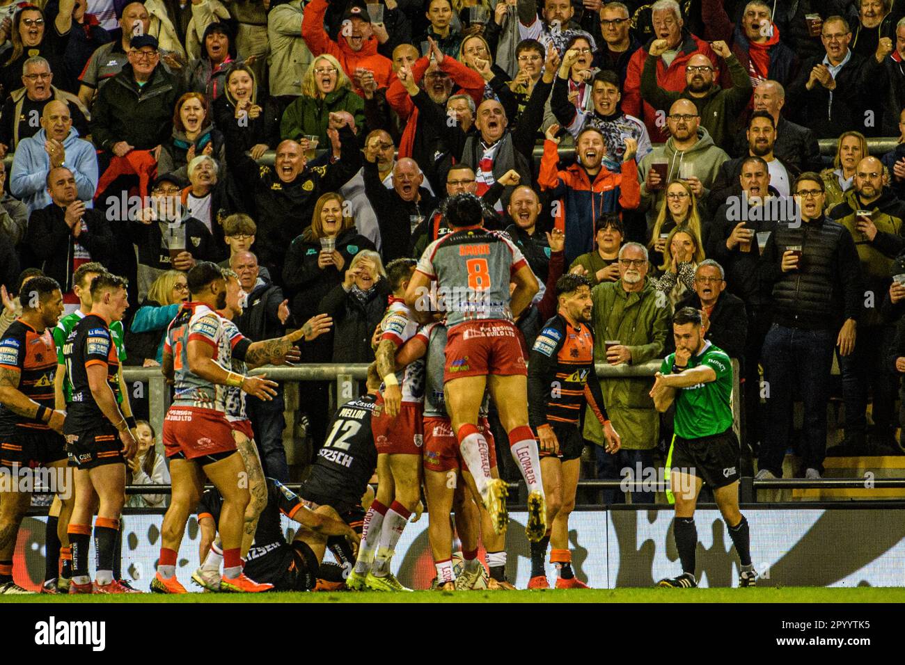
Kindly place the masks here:
MULTIPOLYGON (((0 369, 18 372, 19 392, 48 409, 53 408, 56 347, 50 330, 39 333, 16 318, 0 339, 0 369)), ((0 437, 48 429, 42 421, 16 415, 5 404, 0 405, 0 437)))

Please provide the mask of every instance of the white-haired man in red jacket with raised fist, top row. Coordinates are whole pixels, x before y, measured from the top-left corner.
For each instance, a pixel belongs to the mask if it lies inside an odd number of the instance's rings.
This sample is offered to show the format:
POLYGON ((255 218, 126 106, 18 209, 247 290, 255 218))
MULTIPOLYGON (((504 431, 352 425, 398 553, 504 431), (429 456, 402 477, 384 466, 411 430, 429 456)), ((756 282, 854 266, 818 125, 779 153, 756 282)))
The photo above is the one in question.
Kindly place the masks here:
MULTIPOLYGON (((675 0, 658 0, 653 4, 653 39, 634 52, 628 63, 623 90, 623 112, 640 118, 647 127, 653 143, 664 143, 669 135, 663 131, 666 127, 666 114, 659 113, 641 99, 641 72, 651 43, 656 39, 666 40, 666 51, 657 61, 657 85, 663 90, 681 92, 685 88, 685 65, 695 53, 706 55, 713 63, 715 72, 719 72, 719 59, 707 42, 682 29, 679 4, 675 0)), ((718 78, 714 74, 714 78, 718 78)))

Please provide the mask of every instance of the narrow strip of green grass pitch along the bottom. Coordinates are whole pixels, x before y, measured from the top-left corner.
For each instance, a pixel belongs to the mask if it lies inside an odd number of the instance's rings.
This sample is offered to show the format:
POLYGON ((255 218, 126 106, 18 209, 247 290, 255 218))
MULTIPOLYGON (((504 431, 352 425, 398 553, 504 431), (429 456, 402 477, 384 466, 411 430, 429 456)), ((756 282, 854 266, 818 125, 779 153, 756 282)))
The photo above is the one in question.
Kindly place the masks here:
POLYGON ((905 603, 905 588, 588 589, 281 594, 7 595, 0 603, 905 603))

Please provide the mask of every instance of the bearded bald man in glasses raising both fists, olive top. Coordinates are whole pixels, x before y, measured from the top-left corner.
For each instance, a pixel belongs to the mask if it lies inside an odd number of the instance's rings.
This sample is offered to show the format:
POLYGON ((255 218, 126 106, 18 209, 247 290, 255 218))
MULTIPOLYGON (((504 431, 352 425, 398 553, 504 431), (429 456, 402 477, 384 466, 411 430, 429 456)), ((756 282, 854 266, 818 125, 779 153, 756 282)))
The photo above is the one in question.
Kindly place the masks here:
POLYGON ((644 61, 641 97, 657 110, 669 109, 675 100, 691 100, 698 109, 701 127, 707 129, 714 143, 728 150, 735 138, 736 120, 748 106, 753 88, 748 71, 725 42, 714 42, 710 47, 726 62, 731 88, 722 90, 716 82, 719 71, 714 70, 713 62, 703 53, 696 53, 685 66, 685 90, 664 90, 657 82, 657 61, 666 51, 667 42, 657 39, 644 61))

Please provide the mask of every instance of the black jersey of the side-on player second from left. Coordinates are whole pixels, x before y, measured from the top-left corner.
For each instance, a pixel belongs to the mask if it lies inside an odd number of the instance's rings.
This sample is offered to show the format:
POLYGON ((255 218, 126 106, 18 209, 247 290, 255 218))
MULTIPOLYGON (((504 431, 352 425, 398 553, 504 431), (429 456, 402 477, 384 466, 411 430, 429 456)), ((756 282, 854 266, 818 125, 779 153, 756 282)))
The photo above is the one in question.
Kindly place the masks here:
POLYGON ((66 337, 62 354, 66 361, 66 375, 71 376, 72 381, 72 401, 67 406, 63 432, 81 434, 107 420, 91 394, 88 367, 103 366, 107 372, 107 384, 116 394, 119 356, 107 321, 97 314, 86 315, 66 337))

